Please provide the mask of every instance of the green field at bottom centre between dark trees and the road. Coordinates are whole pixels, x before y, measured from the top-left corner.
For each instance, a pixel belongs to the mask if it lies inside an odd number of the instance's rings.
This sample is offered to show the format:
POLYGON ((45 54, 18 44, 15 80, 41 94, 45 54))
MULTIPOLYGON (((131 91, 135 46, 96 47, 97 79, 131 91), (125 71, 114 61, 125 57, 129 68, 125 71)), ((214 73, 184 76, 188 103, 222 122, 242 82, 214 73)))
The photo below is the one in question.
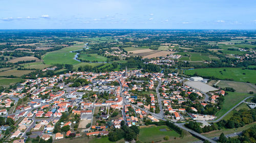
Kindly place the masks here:
POLYGON ((154 126, 141 128, 139 134, 139 140, 142 142, 156 142, 163 140, 164 136, 169 136, 169 138, 179 137, 180 134, 171 130, 167 126, 154 126), (160 129, 166 129, 166 131, 160 131, 160 129))

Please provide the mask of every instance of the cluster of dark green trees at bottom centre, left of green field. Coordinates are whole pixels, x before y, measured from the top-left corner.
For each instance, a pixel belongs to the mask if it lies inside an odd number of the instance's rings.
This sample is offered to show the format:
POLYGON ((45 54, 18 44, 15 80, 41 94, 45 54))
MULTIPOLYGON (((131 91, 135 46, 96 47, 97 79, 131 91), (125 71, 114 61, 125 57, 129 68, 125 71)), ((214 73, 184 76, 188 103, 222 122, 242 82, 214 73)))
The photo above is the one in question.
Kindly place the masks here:
POLYGON ((121 129, 115 129, 113 132, 109 133, 110 141, 117 141, 124 138, 127 141, 131 141, 137 137, 140 130, 137 126, 131 126, 130 128, 124 124, 121 124, 121 129))

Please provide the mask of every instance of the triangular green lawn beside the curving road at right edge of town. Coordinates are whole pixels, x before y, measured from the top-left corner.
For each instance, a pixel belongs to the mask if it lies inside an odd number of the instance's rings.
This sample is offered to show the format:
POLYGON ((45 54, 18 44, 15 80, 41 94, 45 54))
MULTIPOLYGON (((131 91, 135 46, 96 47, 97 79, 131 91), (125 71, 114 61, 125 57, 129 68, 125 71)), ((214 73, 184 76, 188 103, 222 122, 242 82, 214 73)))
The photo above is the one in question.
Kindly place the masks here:
MULTIPOLYGON (((245 99, 248 96, 252 96, 250 94, 244 94, 244 93, 233 93, 233 92, 227 92, 228 95, 226 95, 224 98, 224 103, 223 106, 221 108, 221 110, 219 110, 216 113, 216 116, 218 118, 220 118, 222 115, 224 115, 224 113, 226 113, 228 110, 230 110, 234 105, 238 104, 239 102, 241 102, 243 99, 245 99)), ((217 119, 218 119, 217 118, 217 119)))

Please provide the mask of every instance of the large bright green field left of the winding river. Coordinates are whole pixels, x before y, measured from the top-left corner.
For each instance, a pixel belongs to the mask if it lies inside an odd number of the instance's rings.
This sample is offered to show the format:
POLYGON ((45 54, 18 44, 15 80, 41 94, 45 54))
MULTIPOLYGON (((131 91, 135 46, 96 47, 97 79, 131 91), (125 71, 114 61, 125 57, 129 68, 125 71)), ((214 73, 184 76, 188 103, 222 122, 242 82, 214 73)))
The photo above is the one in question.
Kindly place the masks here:
POLYGON ((53 64, 79 64, 80 62, 74 60, 75 52, 70 52, 73 50, 79 50, 83 48, 83 44, 75 45, 72 47, 66 47, 62 48, 60 50, 52 51, 49 53, 46 53, 42 59, 44 60, 44 63, 47 65, 53 65, 53 64))

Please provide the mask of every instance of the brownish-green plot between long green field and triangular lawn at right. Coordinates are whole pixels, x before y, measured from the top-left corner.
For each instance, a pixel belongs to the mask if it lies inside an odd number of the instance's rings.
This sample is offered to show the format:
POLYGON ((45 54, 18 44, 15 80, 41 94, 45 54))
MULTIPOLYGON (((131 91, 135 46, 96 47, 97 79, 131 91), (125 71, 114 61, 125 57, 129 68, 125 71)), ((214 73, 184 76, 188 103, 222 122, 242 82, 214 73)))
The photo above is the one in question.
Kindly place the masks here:
POLYGON ((233 88, 236 92, 240 93, 249 93, 250 91, 256 93, 256 89, 249 83, 245 82, 221 80, 217 85, 221 88, 233 88))

